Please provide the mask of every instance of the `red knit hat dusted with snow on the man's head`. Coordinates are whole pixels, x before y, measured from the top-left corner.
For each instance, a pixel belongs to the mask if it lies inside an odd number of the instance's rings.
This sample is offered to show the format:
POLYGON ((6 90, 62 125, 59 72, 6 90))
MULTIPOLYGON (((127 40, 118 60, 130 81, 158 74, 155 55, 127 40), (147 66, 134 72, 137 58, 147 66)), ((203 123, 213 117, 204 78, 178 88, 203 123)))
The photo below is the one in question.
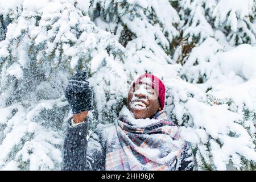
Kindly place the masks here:
POLYGON ((139 76, 135 82, 133 82, 133 87, 135 84, 148 84, 148 82, 143 81, 143 78, 150 78, 151 87, 155 89, 156 93, 158 94, 158 100, 160 102, 161 109, 163 109, 166 97, 166 87, 164 86, 163 82, 158 77, 151 75, 150 73, 144 73, 143 75, 139 76))

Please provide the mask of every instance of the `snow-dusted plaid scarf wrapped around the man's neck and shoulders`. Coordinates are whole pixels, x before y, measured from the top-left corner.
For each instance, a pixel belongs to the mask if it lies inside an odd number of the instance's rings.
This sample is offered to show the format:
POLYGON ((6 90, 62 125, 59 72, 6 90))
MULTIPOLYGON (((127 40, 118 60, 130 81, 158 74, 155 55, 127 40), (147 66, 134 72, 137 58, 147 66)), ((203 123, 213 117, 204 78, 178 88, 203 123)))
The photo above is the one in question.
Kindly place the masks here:
POLYGON ((127 107, 115 121, 106 152, 106 170, 175 170, 185 143, 179 127, 159 111, 152 119, 134 119, 127 107))

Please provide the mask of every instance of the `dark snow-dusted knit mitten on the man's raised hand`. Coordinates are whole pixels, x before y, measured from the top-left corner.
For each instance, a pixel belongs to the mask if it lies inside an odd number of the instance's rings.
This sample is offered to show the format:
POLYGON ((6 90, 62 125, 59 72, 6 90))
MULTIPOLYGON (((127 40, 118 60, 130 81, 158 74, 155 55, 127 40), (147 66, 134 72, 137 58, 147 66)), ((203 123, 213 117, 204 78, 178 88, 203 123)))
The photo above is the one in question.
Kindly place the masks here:
POLYGON ((65 97, 72 109, 72 114, 92 110, 93 92, 89 87, 86 72, 76 73, 68 81, 65 88, 65 97))

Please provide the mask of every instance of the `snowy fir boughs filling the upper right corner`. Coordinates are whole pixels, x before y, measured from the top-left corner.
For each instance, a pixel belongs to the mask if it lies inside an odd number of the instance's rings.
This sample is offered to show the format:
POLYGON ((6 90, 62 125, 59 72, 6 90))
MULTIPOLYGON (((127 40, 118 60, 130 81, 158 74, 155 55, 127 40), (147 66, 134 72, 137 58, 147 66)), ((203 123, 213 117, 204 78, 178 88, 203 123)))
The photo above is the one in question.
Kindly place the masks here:
POLYGON ((191 49, 208 37, 214 36, 225 49, 229 49, 230 45, 256 43, 256 2, 253 0, 174 0, 171 3, 181 18, 181 37, 174 55, 178 63, 183 64, 183 58, 188 56, 191 49))

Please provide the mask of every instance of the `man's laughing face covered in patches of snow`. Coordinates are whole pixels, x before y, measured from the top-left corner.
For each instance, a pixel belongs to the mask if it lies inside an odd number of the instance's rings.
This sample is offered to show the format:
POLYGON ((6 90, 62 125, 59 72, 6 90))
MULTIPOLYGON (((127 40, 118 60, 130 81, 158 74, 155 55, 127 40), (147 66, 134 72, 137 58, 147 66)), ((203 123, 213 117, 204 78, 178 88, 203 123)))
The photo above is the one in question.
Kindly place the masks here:
POLYGON ((127 106, 135 119, 151 118, 161 110, 158 95, 149 85, 136 84, 129 90, 127 106))

